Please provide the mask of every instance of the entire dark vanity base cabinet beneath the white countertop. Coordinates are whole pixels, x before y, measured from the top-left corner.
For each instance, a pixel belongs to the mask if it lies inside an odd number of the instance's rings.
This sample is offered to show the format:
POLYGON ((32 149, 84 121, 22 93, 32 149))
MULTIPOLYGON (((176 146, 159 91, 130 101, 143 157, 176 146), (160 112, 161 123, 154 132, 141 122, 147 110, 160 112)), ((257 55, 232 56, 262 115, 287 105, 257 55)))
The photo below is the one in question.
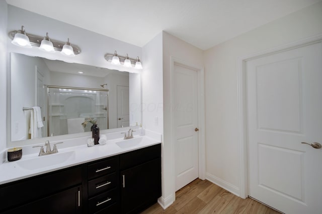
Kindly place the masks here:
POLYGON ((1 184, 0 213, 138 213, 161 196, 161 144, 129 148, 1 184))

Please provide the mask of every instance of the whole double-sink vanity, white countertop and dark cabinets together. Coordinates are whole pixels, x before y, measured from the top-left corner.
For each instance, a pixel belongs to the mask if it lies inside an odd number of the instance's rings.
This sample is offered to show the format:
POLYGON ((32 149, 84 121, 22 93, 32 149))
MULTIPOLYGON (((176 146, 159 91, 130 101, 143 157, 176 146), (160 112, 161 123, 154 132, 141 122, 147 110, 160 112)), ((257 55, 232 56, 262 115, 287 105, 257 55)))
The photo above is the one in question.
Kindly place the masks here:
POLYGON ((20 160, 0 164, 0 213, 141 212, 162 194, 161 135, 146 133, 109 133, 91 147, 91 137, 66 139, 58 152, 23 147, 20 160))

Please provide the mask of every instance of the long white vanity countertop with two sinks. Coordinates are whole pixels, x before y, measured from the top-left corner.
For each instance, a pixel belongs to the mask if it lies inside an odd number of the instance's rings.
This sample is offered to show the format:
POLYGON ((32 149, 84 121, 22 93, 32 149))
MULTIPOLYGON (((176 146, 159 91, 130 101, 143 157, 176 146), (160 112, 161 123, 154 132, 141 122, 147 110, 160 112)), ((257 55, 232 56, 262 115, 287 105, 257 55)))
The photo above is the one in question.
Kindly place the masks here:
POLYGON ((0 184, 160 143, 160 136, 155 138, 154 135, 152 137, 135 135, 131 139, 110 139, 104 145, 99 144, 93 147, 86 145, 86 140, 89 137, 86 137, 86 139, 83 139, 83 137, 82 139, 73 139, 83 141, 83 143, 79 143, 82 145, 71 147, 64 145, 65 148, 59 148, 61 145, 58 145, 57 153, 44 156, 38 156, 38 148, 33 148, 35 153, 31 154, 24 154, 23 148, 23 156, 20 160, 13 162, 6 161, 0 164, 0 171, 7 172, 0 174, 0 184))

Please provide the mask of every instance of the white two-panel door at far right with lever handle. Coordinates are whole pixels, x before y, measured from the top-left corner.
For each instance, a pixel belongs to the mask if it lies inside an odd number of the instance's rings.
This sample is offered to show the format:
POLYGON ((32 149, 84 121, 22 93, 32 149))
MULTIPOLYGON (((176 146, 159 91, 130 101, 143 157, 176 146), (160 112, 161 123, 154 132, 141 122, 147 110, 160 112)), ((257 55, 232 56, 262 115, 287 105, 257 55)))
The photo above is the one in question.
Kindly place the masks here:
POLYGON ((322 46, 246 62, 249 195, 282 212, 322 213, 322 46))

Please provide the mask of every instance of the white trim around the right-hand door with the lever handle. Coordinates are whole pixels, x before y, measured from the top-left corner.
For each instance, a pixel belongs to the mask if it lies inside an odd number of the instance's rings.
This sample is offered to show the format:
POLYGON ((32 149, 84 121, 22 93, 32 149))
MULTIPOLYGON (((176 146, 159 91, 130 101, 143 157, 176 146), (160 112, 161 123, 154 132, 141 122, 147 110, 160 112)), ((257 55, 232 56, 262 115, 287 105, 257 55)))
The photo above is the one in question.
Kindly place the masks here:
POLYGON ((246 80, 245 64, 249 60, 259 57, 276 54, 302 46, 322 42, 322 34, 305 38, 303 40, 279 46, 274 49, 255 53, 237 59, 237 125, 238 125, 238 153, 239 153, 239 195, 242 198, 248 197, 248 167, 247 167, 247 120, 246 120, 246 80))

